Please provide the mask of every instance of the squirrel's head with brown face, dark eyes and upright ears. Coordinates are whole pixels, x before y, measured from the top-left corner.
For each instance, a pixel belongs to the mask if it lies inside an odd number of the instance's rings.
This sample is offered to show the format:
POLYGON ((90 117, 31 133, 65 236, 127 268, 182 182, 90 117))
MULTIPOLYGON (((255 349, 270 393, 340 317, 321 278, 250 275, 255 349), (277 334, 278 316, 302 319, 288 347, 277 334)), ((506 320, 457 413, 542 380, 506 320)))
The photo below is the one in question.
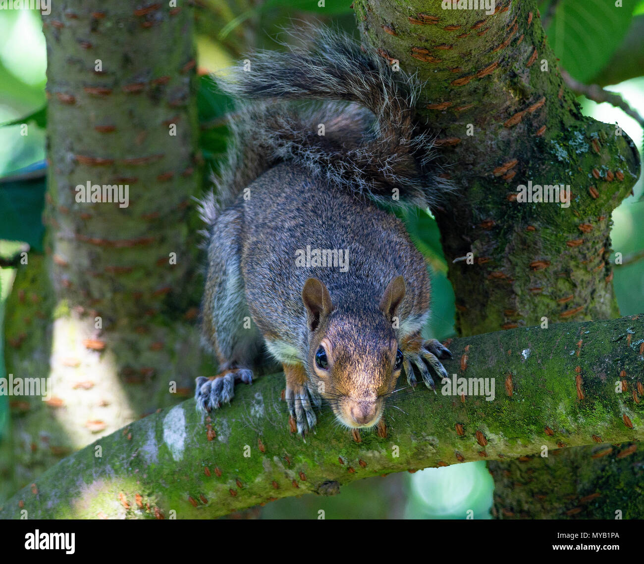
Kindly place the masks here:
POLYGON ((384 398, 395 388, 403 354, 392 320, 404 295, 402 276, 393 278, 373 304, 356 296, 355 304, 336 307, 317 278, 308 278, 302 289, 309 331, 307 373, 348 428, 377 424, 384 398))

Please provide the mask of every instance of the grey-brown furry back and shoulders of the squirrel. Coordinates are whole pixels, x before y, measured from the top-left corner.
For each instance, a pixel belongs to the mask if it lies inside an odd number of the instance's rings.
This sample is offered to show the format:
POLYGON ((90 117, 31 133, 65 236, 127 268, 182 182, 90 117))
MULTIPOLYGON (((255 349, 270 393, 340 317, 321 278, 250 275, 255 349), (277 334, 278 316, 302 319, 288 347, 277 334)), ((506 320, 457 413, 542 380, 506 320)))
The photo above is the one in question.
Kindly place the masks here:
POLYGON ((426 263, 395 215, 293 163, 271 168, 249 190, 234 207, 244 225, 247 301, 261 332, 299 344, 301 289, 310 277, 325 284, 339 311, 368 322, 365 307, 378 314, 384 286, 403 275, 402 332, 422 327, 430 299, 426 263))

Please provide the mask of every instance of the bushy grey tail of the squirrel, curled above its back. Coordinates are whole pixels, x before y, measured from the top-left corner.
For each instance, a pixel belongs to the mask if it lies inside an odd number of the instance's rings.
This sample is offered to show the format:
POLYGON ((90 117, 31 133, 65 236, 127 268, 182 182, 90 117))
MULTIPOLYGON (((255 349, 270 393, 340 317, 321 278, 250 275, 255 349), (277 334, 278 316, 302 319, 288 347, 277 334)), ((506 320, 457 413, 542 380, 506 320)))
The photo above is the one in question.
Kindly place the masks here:
POLYGON ((375 53, 328 28, 306 25, 289 35, 297 36, 298 46, 254 53, 246 61, 249 68, 242 63, 226 80, 218 79, 239 100, 261 100, 231 117, 229 159, 215 180, 216 196, 204 203, 206 221, 284 160, 356 196, 387 203, 427 206, 450 190, 425 167, 432 138, 415 127, 413 107, 421 90, 415 75, 393 71, 375 53))

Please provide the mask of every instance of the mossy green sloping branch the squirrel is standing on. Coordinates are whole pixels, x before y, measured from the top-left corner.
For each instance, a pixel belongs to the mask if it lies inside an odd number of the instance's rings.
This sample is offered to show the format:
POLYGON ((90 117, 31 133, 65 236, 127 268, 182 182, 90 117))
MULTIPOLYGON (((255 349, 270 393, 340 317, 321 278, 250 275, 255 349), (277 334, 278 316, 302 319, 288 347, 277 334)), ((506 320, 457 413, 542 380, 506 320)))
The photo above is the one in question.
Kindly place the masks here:
POLYGON ((187 400, 99 439, 17 493, 0 518, 216 517, 377 474, 640 441, 644 341, 633 336, 643 332, 644 316, 632 316, 460 338, 448 372, 493 381, 495 401, 420 387, 395 400, 403 414, 386 413, 386 432, 359 442, 328 411, 303 442, 289 432, 281 374, 260 378, 209 416, 187 400))

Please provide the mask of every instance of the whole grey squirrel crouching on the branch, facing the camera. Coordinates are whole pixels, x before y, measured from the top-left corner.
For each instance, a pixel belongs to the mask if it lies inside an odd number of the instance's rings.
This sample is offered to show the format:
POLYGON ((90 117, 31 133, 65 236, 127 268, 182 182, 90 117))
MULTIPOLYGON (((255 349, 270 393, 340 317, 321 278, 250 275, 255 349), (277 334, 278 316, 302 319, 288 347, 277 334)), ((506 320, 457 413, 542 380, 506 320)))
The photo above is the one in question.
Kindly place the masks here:
POLYGON ((202 334, 220 372, 196 379, 196 404, 229 403, 267 349, 284 370, 293 432, 314 427, 322 399, 345 428, 372 428, 403 370, 410 385, 418 375, 433 389, 433 376, 448 378, 440 359, 451 358, 421 337, 426 262, 377 204, 426 207, 453 188, 428 170, 415 75, 341 32, 291 33, 299 44, 258 52, 234 80, 217 79, 244 104, 200 203, 202 334))

